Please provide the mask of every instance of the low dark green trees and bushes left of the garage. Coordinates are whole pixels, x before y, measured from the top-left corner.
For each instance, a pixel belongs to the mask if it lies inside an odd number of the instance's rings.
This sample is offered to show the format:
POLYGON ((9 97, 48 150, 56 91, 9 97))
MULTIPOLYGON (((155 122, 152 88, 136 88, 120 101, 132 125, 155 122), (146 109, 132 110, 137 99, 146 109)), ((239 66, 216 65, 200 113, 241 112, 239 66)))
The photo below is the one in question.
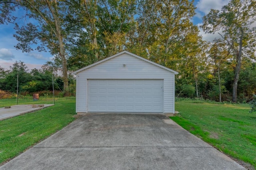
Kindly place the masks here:
MULTIPOLYGON (((18 86, 18 93, 23 95, 32 95, 38 92, 52 94, 52 79, 54 90, 63 91, 62 77, 52 74, 52 70, 45 70, 45 67, 39 70, 34 68, 29 71, 26 64, 22 61, 16 61, 10 66, 10 69, 0 67, 0 90, 7 92, 16 93, 18 86)), ((74 77, 70 77, 69 85, 70 88, 73 87, 70 94, 74 95, 74 77)))

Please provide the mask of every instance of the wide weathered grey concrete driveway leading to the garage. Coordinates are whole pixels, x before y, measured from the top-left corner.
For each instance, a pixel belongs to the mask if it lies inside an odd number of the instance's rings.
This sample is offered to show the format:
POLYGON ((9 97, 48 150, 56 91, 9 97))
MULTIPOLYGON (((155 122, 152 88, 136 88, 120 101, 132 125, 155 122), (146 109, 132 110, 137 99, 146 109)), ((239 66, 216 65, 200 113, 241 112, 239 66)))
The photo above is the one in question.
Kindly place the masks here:
POLYGON ((0 170, 244 169, 165 115, 84 115, 0 170))

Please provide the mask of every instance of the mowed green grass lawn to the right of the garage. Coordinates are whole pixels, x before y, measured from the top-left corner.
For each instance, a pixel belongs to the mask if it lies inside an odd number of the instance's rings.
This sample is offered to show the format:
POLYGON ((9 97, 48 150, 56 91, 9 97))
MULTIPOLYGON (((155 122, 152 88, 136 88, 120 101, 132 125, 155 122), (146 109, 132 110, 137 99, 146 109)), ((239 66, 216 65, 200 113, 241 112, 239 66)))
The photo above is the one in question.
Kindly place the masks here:
POLYGON ((256 168, 256 114, 247 104, 175 103, 178 116, 170 117, 190 133, 220 151, 256 168))

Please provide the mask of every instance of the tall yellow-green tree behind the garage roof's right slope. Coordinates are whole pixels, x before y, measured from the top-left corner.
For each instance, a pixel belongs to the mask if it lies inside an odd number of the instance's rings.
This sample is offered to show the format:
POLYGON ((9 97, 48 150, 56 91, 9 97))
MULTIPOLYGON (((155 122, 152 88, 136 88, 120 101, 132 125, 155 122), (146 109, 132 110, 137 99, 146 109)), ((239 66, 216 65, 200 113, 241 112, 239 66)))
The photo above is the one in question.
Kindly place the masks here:
POLYGON ((190 18, 194 16, 193 2, 188 0, 142 0, 137 18, 137 44, 146 47, 148 58, 167 67, 175 66, 176 53, 190 18))

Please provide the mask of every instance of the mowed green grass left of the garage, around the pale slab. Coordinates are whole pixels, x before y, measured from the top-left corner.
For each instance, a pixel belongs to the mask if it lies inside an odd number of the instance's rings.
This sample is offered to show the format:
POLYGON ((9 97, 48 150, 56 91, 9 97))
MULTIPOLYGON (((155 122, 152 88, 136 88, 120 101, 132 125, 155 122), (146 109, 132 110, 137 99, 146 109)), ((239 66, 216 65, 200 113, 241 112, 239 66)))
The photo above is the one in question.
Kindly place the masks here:
MULTIPOLYGON (((54 106, 0 121, 0 164, 72 122, 75 102, 74 97, 58 98, 54 106)), ((0 100, 0 107, 15 104, 15 100, 0 100)), ((52 99, 21 99, 19 104, 52 104, 52 99)))

